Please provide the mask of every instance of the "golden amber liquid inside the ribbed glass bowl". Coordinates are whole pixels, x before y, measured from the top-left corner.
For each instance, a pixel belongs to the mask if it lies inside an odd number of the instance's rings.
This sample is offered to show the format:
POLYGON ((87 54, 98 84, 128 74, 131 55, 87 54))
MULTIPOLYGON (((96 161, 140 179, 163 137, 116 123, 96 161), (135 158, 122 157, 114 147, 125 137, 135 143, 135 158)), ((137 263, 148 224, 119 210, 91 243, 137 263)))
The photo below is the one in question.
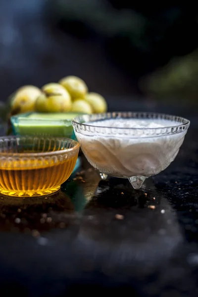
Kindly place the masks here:
POLYGON ((0 193, 9 196, 38 196, 57 191, 68 179, 76 164, 77 156, 57 165, 43 168, 1 169, 0 193))

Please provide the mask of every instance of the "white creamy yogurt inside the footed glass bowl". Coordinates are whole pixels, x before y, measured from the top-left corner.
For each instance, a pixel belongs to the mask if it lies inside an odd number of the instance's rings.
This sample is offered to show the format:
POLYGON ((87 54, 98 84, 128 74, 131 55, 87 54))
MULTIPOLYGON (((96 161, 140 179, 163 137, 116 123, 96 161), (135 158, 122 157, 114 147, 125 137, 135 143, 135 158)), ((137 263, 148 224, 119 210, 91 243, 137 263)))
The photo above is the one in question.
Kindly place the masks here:
MULTIPOLYGON (((86 123, 98 127, 112 128, 164 128, 178 126, 178 122, 160 119, 110 119, 86 123)), ((164 136, 146 137, 145 129, 131 138, 124 134, 76 132, 81 148, 88 161, 102 173, 129 178, 157 174, 176 157, 184 141, 186 131, 164 136)))

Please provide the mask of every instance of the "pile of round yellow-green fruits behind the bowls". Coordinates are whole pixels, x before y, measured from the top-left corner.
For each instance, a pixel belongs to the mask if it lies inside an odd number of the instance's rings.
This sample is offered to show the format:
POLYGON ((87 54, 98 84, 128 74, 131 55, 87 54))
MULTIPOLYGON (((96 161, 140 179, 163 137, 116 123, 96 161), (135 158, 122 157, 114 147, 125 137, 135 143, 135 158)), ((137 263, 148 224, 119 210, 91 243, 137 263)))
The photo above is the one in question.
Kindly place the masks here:
POLYGON ((10 99, 11 115, 24 112, 83 112, 100 113, 107 110, 105 99, 89 93, 86 83, 67 76, 58 83, 49 83, 41 89, 35 86, 19 88, 10 99))

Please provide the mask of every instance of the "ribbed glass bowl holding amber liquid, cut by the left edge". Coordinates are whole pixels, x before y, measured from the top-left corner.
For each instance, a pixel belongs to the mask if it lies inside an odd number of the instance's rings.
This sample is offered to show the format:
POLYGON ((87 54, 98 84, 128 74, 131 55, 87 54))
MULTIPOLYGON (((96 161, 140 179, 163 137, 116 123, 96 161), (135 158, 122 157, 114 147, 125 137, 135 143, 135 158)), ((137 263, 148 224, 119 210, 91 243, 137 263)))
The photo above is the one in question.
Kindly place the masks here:
POLYGON ((0 137, 0 193, 32 197, 57 191, 71 175, 79 147, 67 138, 0 137))

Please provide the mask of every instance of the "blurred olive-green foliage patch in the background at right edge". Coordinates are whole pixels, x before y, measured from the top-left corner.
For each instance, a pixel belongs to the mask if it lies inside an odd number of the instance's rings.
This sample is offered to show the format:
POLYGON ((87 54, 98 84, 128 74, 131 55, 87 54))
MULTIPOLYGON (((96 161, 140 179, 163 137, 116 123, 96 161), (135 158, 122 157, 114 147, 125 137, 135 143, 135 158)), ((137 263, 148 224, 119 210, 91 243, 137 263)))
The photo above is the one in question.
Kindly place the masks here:
POLYGON ((197 101, 198 49, 180 58, 172 58, 167 65, 140 79, 141 90, 159 98, 179 97, 197 101))

